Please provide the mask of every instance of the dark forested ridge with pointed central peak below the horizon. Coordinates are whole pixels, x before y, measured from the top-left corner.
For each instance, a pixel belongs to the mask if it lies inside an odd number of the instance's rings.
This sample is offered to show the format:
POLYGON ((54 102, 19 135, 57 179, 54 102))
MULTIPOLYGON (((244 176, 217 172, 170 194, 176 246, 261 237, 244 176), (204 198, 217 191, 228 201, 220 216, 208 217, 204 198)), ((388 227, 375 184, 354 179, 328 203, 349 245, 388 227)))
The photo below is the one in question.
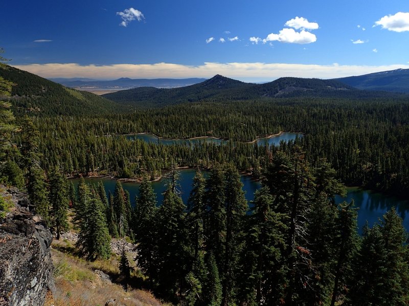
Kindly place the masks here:
POLYGON ((269 83, 252 84, 215 75, 205 82, 181 88, 140 87, 103 96, 121 104, 157 107, 209 99, 245 100, 305 96, 362 98, 385 96, 385 93, 358 90, 335 80, 280 78, 269 83))

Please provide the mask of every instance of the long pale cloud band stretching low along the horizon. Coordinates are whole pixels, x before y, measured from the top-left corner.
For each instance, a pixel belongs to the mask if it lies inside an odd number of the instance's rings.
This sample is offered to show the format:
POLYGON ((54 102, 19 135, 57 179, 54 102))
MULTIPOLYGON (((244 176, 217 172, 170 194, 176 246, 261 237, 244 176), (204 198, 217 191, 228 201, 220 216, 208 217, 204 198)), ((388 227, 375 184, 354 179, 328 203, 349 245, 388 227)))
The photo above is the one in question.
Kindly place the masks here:
POLYGON ((272 81, 281 77, 299 78, 342 78, 351 75, 409 68, 406 65, 363 66, 363 65, 305 65, 285 63, 203 63, 198 66, 156 63, 156 64, 31 64, 15 65, 43 78, 211 78, 215 74, 248 82, 272 81))

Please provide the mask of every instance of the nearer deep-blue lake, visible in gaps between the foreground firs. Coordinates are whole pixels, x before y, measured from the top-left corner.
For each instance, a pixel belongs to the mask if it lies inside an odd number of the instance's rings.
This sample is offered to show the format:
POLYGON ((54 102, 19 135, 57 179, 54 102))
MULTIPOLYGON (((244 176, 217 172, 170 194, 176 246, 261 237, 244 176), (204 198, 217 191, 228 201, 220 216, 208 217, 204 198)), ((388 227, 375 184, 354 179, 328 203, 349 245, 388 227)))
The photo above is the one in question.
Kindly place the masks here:
MULTIPOLYGON (((182 169, 180 170, 180 191, 181 197, 186 204, 192 190, 193 177, 195 176, 196 169, 182 169)), ((209 172, 203 171, 205 177, 208 177, 209 172)), ((77 188, 79 179, 72 179, 74 187, 77 188)), ((109 178, 86 178, 86 183, 98 184, 99 181, 102 181, 105 187, 105 191, 109 194, 115 190, 116 180, 109 178)), ((241 175, 241 182, 243 183, 243 190, 245 191, 245 197, 248 202, 254 199, 254 193, 257 189, 261 187, 261 183, 252 179, 251 176, 241 175)), ((157 182, 152 182, 153 190, 156 193, 156 199, 158 205, 162 203, 163 193, 166 190, 166 179, 161 179, 157 182)), ((132 205, 135 203, 135 196, 139 194, 139 183, 123 183, 123 188, 129 192, 130 200, 132 205)), ((362 226, 365 225, 365 222, 368 220, 370 227, 378 221, 378 218, 390 210, 392 207, 396 207, 396 212, 403 219, 403 226, 406 228, 406 231, 409 232, 409 201, 399 200, 395 197, 387 196, 381 193, 372 192, 369 190, 362 190, 357 187, 347 188, 347 196, 345 198, 340 196, 335 196, 337 203, 343 202, 346 200, 350 202, 354 200, 355 207, 359 208, 358 210, 358 233, 362 233, 362 226)))

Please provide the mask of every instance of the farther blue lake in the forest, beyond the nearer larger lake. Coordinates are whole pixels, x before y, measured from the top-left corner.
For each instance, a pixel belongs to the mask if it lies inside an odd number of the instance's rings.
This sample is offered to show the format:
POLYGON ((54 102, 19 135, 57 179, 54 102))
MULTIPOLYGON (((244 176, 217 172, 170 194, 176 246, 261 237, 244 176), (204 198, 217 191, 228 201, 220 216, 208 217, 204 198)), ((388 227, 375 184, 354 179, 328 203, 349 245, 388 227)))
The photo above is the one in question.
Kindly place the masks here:
MULTIPOLYGON (((283 132, 280 133, 279 135, 275 135, 272 137, 262 137, 262 138, 257 138, 256 142, 259 145, 264 145, 264 144, 274 144, 274 145, 279 145, 280 141, 288 142, 290 140, 294 140, 297 137, 303 137, 302 133, 293 133, 293 132, 283 132)), ((191 138, 191 139, 163 139, 163 138, 158 138, 157 136, 153 134, 133 134, 133 135, 126 135, 126 138, 128 140, 143 140, 148 143, 161 143, 164 145, 172 145, 172 144, 186 144, 186 145, 198 145, 203 142, 207 143, 216 143, 216 144, 225 144, 228 142, 228 140, 223 140, 223 139, 218 139, 218 138, 212 138, 212 137, 200 137, 200 138, 191 138)))

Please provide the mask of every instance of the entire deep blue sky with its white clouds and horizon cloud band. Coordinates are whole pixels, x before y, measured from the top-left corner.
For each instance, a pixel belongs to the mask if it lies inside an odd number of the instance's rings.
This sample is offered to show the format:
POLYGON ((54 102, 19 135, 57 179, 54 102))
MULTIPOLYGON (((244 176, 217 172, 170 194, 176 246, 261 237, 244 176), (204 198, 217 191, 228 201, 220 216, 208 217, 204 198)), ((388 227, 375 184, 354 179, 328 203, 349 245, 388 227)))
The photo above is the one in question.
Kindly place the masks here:
POLYGON ((10 1, 0 47, 46 78, 334 78, 409 68, 409 2, 10 1))

